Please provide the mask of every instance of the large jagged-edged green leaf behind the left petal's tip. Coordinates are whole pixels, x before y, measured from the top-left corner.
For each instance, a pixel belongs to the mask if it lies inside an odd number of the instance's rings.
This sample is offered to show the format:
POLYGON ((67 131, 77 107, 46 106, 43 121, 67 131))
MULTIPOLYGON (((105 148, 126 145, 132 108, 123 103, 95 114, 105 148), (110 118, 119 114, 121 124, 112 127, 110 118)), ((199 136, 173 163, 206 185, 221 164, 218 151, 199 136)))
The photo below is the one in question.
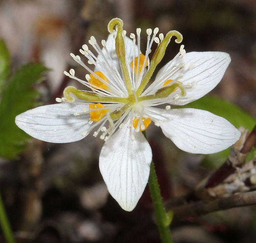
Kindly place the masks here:
POLYGON ((8 81, 0 103, 0 157, 14 159, 25 148, 30 136, 16 126, 15 117, 36 105, 39 93, 32 85, 46 70, 42 64, 27 64, 8 81))

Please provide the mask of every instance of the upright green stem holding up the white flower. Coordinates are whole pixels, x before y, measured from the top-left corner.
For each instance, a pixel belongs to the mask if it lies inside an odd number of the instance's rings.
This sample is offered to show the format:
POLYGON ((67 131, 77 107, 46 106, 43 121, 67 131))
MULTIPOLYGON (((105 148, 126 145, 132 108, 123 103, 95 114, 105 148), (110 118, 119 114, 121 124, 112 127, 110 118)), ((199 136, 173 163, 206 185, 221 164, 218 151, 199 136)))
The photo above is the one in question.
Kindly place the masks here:
MULTIPOLYGON (((146 132, 142 132, 147 139, 146 132)), ((148 185, 150 188, 150 194, 154 206, 154 211, 156 215, 157 227, 160 234, 162 243, 173 243, 170 224, 172 221, 172 211, 166 213, 165 207, 163 206, 162 196, 157 180, 157 175, 155 171, 154 162, 152 160, 150 165, 150 176, 148 178, 148 185)))

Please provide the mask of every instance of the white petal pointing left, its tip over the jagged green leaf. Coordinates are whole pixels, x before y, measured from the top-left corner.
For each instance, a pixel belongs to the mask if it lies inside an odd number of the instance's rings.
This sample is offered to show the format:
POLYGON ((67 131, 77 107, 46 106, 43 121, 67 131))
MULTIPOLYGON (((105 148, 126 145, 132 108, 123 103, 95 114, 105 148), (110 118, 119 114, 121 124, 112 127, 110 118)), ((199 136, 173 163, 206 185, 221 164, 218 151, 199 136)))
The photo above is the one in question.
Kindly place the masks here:
POLYGON ((70 143, 83 139, 89 114, 75 116, 88 106, 75 103, 50 104, 16 116, 16 125, 36 139, 51 143, 70 143))

